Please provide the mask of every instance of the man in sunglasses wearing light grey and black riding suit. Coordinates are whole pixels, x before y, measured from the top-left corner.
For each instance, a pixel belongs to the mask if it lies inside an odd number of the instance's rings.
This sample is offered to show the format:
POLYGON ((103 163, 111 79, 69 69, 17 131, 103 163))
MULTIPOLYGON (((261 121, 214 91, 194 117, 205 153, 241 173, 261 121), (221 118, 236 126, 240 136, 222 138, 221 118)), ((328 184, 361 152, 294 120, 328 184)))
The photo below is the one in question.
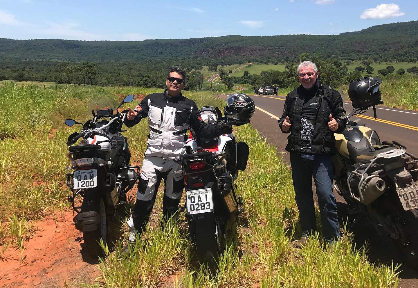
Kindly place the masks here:
MULTIPOLYGON (((228 124, 212 125, 201 121, 196 103, 181 95, 185 80, 186 73, 181 67, 171 67, 166 80, 167 89, 163 93, 150 94, 134 110, 128 109, 127 119, 124 121, 127 127, 132 127, 147 117, 150 128, 138 183, 137 201, 127 221, 130 241, 135 240, 135 233, 141 234, 147 226, 162 179, 163 223, 176 214, 184 181, 183 176, 173 173, 180 170, 181 165, 168 158, 186 152, 184 144, 188 139, 188 129, 192 128, 204 138, 232 133, 232 126, 228 124)), ((128 247, 125 247, 125 252, 127 251, 128 247)))

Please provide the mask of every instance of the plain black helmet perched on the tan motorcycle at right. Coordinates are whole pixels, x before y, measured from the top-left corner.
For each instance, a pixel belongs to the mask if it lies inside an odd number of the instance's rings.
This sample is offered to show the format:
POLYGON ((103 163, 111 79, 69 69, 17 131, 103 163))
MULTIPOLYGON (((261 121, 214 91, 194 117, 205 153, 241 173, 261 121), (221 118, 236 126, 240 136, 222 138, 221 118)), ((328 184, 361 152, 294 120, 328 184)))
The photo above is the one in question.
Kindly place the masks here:
POLYGON ((382 79, 374 77, 364 77, 352 82, 348 87, 348 97, 353 107, 369 108, 383 104, 382 93, 379 90, 381 83, 382 79))

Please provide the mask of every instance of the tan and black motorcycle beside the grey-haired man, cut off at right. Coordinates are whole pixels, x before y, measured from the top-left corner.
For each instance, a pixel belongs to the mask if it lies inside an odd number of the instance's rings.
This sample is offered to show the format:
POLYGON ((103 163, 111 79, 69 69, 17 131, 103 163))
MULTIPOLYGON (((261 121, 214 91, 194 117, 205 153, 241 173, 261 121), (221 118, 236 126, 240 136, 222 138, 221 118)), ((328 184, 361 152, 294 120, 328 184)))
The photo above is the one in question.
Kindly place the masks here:
MULTIPOLYGON (((355 108, 347 117, 369 108, 355 108)), ((385 231, 405 260, 418 267, 418 158, 396 141, 380 142, 376 131, 356 121, 349 120, 334 136, 334 188, 358 213, 353 224, 367 215, 377 232, 385 231)))

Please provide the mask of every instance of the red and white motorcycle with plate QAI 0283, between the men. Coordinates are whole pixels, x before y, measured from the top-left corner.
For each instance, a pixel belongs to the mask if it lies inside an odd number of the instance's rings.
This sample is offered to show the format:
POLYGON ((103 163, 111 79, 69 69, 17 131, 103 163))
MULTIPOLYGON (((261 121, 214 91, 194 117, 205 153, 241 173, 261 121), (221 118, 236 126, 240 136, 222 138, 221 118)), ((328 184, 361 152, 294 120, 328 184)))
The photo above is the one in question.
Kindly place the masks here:
MULTIPOLYGON (((204 121, 212 124, 229 122, 213 106, 201 109, 204 121)), ((241 196, 237 195, 234 180, 238 170, 247 166, 249 147, 236 141, 233 134, 224 134, 213 139, 196 137, 192 131, 186 141, 186 154, 174 161, 182 165, 175 171, 184 177, 186 190, 186 218, 189 232, 201 262, 215 264, 224 251, 229 227, 236 227, 237 216, 244 211, 241 196)))

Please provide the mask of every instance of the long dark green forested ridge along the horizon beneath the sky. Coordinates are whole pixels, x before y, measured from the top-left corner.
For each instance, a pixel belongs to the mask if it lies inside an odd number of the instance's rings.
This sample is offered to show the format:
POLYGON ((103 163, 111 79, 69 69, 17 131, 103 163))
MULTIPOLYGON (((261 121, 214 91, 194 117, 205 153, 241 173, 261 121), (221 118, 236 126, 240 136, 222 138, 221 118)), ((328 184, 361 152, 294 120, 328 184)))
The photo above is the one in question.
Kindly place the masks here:
MULTIPOLYGON (((163 61, 179 58, 233 59, 238 62, 293 61, 303 53, 324 59, 387 58, 418 55, 418 21, 384 24, 339 35, 220 36, 145 41, 0 39, 3 61, 163 61)), ((377 61, 377 59, 376 59, 377 61)))

